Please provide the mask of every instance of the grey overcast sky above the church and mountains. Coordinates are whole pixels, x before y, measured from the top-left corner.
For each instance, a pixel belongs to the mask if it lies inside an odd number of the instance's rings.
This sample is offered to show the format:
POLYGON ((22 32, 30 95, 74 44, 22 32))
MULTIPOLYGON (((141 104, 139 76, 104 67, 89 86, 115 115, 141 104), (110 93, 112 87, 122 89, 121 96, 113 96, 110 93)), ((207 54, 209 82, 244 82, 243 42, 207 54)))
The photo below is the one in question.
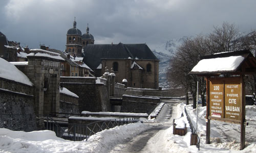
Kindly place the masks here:
POLYGON ((65 49, 73 28, 95 44, 146 43, 151 49, 173 38, 207 34, 214 25, 234 23, 240 32, 256 29, 256 1, 234 0, 1 0, 0 32, 22 46, 65 49))

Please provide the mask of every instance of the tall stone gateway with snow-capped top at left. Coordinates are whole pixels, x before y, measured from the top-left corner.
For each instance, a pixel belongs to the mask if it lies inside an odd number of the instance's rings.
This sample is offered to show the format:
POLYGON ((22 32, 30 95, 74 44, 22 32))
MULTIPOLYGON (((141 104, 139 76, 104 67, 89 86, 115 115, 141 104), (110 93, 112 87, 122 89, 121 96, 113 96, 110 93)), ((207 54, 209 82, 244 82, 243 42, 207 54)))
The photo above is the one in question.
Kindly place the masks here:
POLYGON ((35 86, 38 115, 59 112, 60 62, 47 57, 28 56, 28 66, 22 70, 35 86))

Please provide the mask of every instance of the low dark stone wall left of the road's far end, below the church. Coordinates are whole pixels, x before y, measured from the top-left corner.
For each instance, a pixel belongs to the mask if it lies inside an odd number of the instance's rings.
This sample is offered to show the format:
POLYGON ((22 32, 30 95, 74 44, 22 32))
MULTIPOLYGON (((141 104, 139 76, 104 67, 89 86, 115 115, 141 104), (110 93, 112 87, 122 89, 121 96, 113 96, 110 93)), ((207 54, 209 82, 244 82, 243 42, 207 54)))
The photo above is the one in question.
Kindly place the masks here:
POLYGON ((123 95, 121 112, 151 113, 160 103, 160 98, 123 95))

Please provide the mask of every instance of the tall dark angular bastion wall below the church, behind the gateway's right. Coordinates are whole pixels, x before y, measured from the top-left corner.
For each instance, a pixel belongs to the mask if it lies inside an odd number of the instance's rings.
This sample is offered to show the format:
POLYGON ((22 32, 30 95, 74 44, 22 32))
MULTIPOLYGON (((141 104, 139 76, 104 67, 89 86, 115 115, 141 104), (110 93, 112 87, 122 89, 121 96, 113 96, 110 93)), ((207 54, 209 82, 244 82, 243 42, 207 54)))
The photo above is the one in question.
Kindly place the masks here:
POLYGON ((96 84, 93 77, 61 77, 60 83, 79 96, 79 112, 110 111, 110 100, 107 87, 96 84))

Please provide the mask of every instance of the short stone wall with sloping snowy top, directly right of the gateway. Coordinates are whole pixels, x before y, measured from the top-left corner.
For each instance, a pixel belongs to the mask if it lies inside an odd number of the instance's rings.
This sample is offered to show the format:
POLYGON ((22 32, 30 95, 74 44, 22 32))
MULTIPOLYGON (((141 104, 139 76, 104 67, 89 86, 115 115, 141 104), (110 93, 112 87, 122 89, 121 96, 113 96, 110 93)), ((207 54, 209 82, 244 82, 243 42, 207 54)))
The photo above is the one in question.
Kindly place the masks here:
POLYGON ((78 98, 67 94, 59 95, 59 112, 69 114, 80 114, 78 98))

